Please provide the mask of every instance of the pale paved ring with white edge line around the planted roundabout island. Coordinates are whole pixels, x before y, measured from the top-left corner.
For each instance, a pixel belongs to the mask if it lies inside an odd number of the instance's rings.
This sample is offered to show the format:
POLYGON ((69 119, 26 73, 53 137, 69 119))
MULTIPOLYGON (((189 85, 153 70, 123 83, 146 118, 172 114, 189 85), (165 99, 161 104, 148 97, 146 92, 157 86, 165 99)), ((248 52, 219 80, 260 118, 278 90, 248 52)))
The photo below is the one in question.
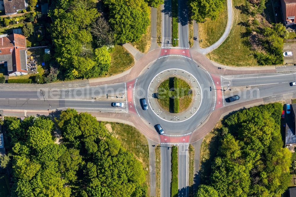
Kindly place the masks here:
MULTIPOLYGON (((161 95, 159 95, 158 97, 161 97, 161 95)), ((167 122, 183 122, 189 120, 191 117, 194 116, 194 114, 197 113, 202 102, 202 91, 197 79, 189 72, 181 69, 168 69, 158 73, 152 79, 148 87, 147 98, 150 109, 157 117, 167 122), (192 102, 189 105, 188 109, 185 109, 183 112, 180 113, 170 113, 166 111, 165 109, 163 109, 162 106, 160 106, 159 102, 157 101, 158 99, 156 98, 158 87, 162 82, 170 77, 181 78, 182 80, 186 81, 192 88, 192 102)))

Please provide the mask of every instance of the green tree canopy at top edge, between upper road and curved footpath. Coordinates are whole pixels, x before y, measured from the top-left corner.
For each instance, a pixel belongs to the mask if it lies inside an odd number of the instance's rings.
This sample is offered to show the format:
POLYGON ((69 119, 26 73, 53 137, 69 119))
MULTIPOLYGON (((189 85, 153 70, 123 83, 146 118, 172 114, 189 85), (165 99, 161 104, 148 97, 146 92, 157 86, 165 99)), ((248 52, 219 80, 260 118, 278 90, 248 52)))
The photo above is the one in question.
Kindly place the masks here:
POLYGON ((189 0, 188 5, 191 19, 196 22, 205 22, 205 18, 215 20, 223 10, 225 0, 189 0))

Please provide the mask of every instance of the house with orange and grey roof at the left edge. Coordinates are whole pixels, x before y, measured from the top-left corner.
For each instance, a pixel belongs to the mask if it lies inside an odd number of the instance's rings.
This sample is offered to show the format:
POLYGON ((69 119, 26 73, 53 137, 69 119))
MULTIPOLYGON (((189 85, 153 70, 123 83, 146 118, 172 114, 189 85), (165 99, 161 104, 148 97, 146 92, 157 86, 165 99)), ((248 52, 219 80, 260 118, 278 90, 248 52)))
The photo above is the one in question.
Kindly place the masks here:
POLYGON ((25 36, 0 35, 0 64, 7 67, 9 76, 28 74, 25 36))

